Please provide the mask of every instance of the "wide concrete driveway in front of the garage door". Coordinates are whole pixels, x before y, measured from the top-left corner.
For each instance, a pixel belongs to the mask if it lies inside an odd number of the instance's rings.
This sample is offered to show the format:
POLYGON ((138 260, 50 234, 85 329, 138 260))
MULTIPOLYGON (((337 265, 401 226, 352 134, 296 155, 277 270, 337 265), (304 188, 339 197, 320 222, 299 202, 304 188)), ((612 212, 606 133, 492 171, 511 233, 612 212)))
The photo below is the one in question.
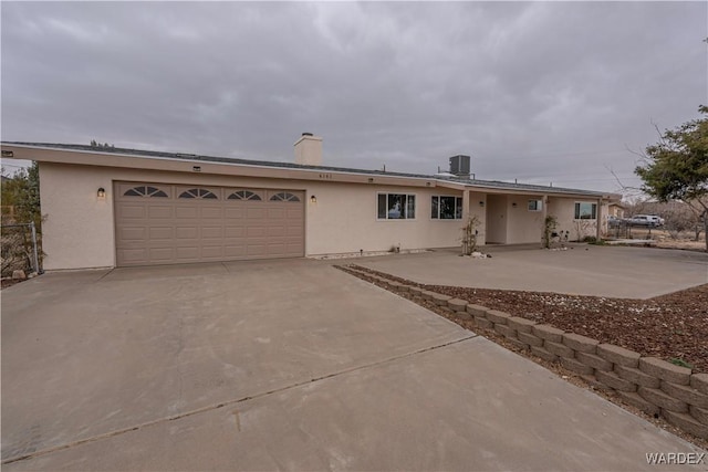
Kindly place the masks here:
POLYGON ((8 471, 638 470, 697 451, 324 262, 2 292, 8 471))

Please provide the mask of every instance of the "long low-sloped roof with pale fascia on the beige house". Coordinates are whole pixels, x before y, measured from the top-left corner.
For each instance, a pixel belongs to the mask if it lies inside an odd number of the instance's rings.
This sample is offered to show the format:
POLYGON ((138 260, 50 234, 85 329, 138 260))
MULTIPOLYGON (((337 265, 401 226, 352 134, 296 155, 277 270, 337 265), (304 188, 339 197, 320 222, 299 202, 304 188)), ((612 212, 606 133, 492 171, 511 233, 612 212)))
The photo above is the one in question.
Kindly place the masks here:
POLYGON ((425 175, 425 174, 408 174, 408 172, 391 172, 384 170, 367 170, 367 169, 355 169, 347 167, 332 167, 332 166, 309 166, 302 164, 294 162, 278 162, 278 161, 268 161, 268 160, 251 160, 251 159, 239 159, 239 158, 230 158, 230 157, 218 157, 218 156, 206 156, 206 155, 197 155, 197 154, 183 154, 183 153, 166 153, 159 150, 145 150, 145 149, 128 149, 128 148, 118 148, 118 147, 103 147, 103 146, 90 146, 90 145, 79 145, 79 144, 56 144, 56 143, 23 143, 23 141, 2 141, 3 146, 20 146, 28 148, 38 148, 38 149, 58 149, 58 150, 69 150, 69 151, 77 151, 77 153, 93 153, 93 154, 103 154, 103 155, 116 155, 116 156, 129 156, 129 157, 142 157, 147 159, 170 159, 170 160, 181 160, 181 161, 194 161, 194 162, 215 162, 215 164, 226 164, 226 165, 236 165, 236 166, 257 166, 257 167, 266 167, 266 168, 274 168, 274 169, 293 169, 293 170, 313 170, 313 171, 327 171, 327 172, 344 172, 344 174, 358 174, 365 176, 385 176, 385 177, 399 177, 399 178, 413 178, 413 179, 426 179, 426 180, 435 180, 439 185, 454 185, 456 187, 465 187, 465 188, 480 188, 480 189, 499 189, 499 190, 518 190, 524 192, 539 192, 539 193, 562 193, 562 195, 577 195, 577 196, 587 196, 594 198, 604 198, 612 200, 620 200, 621 196, 601 192, 601 191, 592 191, 592 190, 583 190, 583 189, 572 189, 572 188, 563 188, 563 187, 550 187, 550 186, 539 186, 539 185, 530 185, 530 183, 517 183, 517 182, 504 182, 499 180, 480 180, 480 179, 470 179, 470 178, 441 178, 435 175, 425 175))

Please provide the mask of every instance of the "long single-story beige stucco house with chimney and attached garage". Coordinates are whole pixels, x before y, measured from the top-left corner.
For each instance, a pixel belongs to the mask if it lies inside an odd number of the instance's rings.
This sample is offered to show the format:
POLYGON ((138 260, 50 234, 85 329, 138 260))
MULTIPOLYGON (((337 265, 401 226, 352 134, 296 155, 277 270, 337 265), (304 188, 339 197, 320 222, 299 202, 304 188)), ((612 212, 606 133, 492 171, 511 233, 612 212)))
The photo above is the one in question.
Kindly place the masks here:
POLYGON ((467 156, 450 158, 459 177, 322 166, 310 134, 295 164, 30 143, 2 154, 39 162, 45 270, 450 248, 469 217, 481 245, 540 243, 548 214, 572 241, 606 231, 620 198, 470 179, 467 156))

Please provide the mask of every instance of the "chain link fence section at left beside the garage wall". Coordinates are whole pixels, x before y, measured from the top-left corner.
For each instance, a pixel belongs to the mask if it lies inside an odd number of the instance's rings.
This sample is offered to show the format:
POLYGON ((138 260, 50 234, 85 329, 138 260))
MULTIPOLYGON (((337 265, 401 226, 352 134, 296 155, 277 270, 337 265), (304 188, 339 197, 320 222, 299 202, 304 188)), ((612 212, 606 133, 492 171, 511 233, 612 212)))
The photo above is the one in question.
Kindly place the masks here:
POLYGON ((0 240, 3 277, 12 276, 14 271, 42 273, 34 222, 2 224, 0 240))

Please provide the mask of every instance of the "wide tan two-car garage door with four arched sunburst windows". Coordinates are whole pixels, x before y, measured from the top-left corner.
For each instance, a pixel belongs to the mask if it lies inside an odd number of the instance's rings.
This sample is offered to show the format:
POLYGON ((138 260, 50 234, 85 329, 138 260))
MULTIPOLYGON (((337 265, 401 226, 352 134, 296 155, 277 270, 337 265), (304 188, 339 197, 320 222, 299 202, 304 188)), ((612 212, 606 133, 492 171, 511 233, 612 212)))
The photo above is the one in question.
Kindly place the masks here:
POLYGON ((304 192, 116 182, 118 266, 304 255, 304 192))

